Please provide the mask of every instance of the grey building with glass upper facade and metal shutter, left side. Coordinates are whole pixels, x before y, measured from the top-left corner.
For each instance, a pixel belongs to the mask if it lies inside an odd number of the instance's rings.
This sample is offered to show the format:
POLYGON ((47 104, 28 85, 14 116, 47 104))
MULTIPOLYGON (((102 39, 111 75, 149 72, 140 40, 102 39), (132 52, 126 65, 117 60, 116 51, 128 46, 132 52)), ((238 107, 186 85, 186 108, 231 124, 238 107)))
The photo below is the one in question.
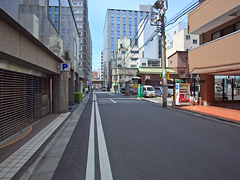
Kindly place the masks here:
POLYGON ((84 77, 68 0, 0 1, 0 27, 1 143, 49 113, 68 112, 84 77))

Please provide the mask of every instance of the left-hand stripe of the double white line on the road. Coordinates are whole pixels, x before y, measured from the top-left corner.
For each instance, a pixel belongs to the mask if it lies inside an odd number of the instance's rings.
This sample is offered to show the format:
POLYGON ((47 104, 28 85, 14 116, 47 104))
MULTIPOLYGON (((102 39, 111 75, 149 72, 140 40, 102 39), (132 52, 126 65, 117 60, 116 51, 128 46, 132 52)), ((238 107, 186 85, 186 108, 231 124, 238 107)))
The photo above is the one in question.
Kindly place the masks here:
POLYGON ((93 94, 92 113, 90 122, 89 132, 89 143, 88 143, 88 158, 87 158, 87 170, 86 180, 95 180, 95 154, 94 154, 94 100, 95 93, 93 94))

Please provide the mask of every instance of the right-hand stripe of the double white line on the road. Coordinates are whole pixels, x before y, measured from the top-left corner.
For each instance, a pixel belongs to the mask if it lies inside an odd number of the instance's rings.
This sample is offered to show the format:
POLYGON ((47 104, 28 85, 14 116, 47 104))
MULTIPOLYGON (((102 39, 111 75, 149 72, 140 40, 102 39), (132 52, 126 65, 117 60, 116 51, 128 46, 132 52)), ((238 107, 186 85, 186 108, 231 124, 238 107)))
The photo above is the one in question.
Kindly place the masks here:
POLYGON ((96 121, 97 121, 97 135, 98 135, 98 150, 99 150, 99 163, 100 163, 100 173, 102 180, 113 180, 111 166, 109 162, 106 141, 103 133, 101 117, 98 109, 98 104, 95 102, 96 106, 96 121))

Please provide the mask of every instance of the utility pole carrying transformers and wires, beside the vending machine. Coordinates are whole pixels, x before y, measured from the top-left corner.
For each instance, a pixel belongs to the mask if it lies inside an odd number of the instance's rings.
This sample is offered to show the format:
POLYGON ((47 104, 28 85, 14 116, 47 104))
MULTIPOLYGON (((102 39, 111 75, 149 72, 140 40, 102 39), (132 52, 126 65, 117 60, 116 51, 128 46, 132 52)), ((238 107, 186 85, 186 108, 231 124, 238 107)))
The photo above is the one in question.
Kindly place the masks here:
MULTIPOLYGON (((167 1, 166 6, 167 6, 167 1)), ((167 7, 166 7, 167 8, 167 7)), ((157 0, 150 13, 150 24, 152 26, 161 27, 161 38, 162 38, 162 77, 163 77, 163 107, 167 107, 167 77, 166 77, 166 42, 165 42, 165 7, 164 0, 157 0), (160 22, 160 25, 159 25, 160 22)))

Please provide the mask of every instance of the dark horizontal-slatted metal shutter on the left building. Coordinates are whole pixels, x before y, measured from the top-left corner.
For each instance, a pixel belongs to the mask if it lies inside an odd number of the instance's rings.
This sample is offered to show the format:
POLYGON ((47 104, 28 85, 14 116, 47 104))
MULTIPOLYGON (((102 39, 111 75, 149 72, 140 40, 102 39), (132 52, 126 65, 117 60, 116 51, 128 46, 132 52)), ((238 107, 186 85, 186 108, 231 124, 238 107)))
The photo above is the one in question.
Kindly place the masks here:
POLYGON ((49 113, 49 79, 0 69, 0 142, 49 113))

